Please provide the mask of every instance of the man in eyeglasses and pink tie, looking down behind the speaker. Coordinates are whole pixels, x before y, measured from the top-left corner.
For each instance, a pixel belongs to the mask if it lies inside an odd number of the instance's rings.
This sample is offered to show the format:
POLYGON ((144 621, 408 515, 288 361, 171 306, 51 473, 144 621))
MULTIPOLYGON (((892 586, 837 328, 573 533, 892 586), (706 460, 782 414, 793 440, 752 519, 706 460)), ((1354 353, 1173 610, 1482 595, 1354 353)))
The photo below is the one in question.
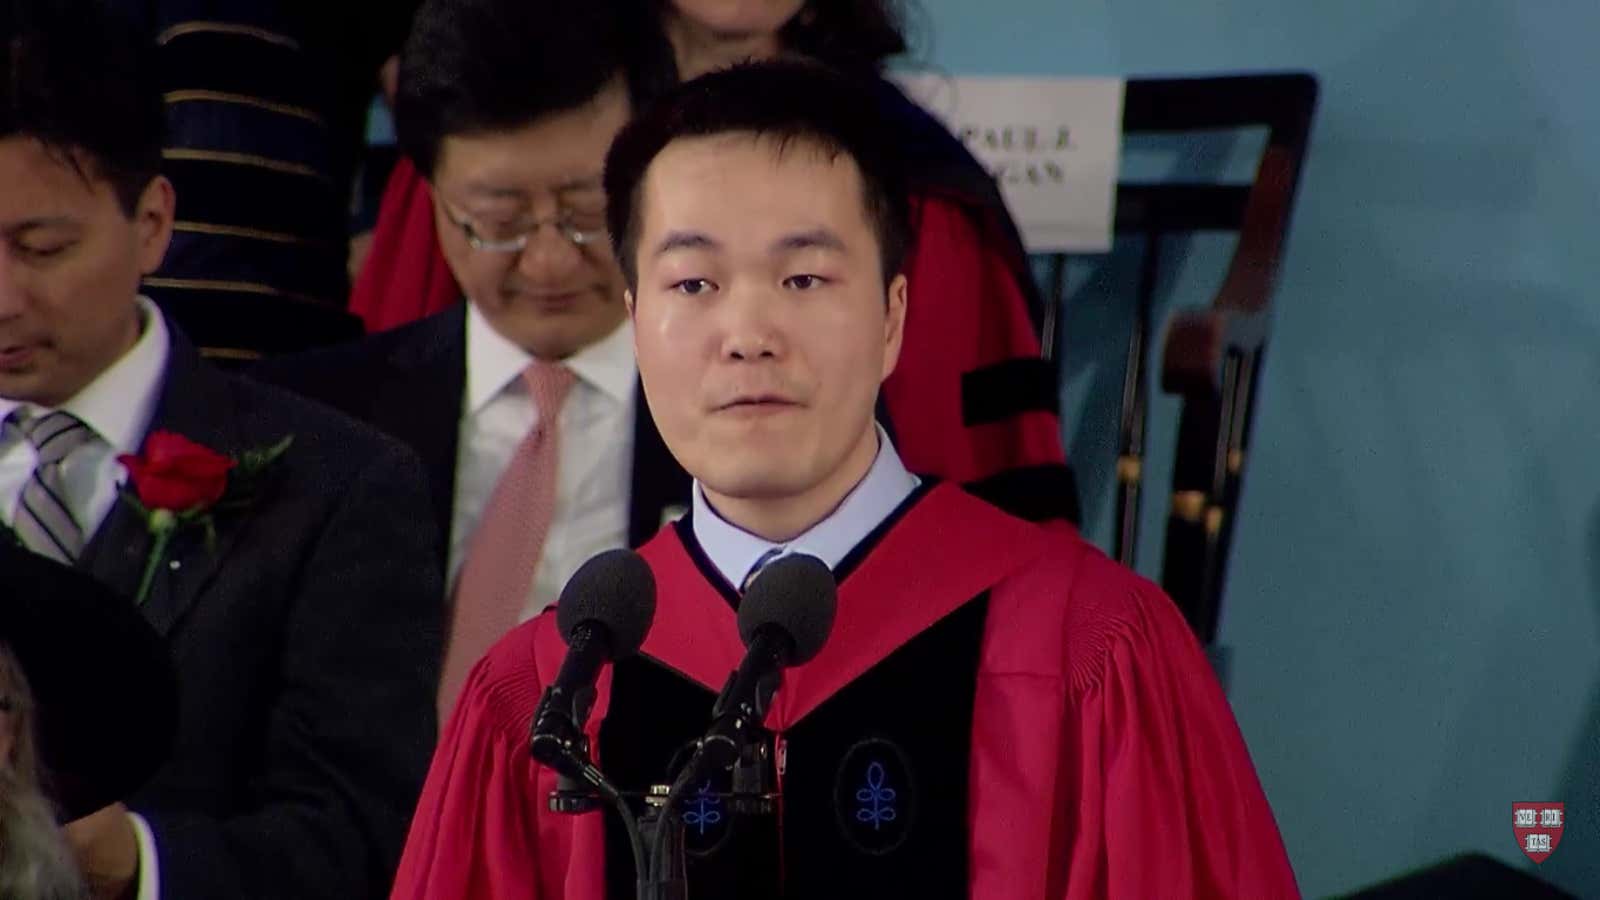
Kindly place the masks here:
POLYGON ((450 711, 467 669, 592 554, 643 543, 690 479, 637 389, 602 165, 632 115, 613 3, 430 0, 395 125, 466 304, 262 368, 411 444, 450 536, 450 711))

